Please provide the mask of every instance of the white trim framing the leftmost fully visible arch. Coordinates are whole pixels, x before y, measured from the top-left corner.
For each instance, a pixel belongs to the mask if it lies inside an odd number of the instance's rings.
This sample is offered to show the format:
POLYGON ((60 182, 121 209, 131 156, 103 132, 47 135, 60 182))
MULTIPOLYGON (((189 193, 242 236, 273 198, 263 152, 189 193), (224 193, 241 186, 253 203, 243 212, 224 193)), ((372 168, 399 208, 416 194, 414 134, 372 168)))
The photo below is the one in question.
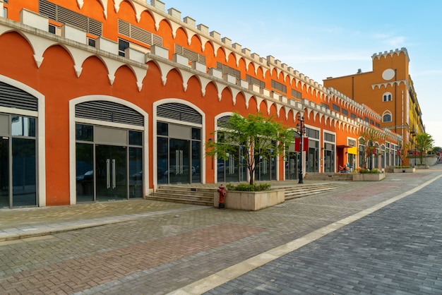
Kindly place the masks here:
MULTIPOLYGON (((76 200, 76 116, 75 116, 75 107, 77 104, 82 102, 92 102, 96 100, 104 100, 106 102, 115 102, 117 104, 124 105, 126 107, 130 107, 131 109, 139 112, 144 117, 144 127, 142 130, 144 131, 143 136, 143 198, 145 195, 150 194, 149 189, 149 145, 148 145, 148 123, 149 123, 149 115, 145 112, 141 107, 138 107, 136 104, 132 104, 126 100, 123 100, 118 97, 112 97, 109 95, 85 95, 82 97, 74 98, 69 101, 69 194, 70 194, 70 204, 75 205, 76 200)), ((93 122, 97 125, 103 126, 114 126, 114 127, 122 127, 128 128, 124 124, 112 124, 111 122, 106 121, 95 121, 93 122)), ((131 126, 133 128, 133 126, 131 126)))

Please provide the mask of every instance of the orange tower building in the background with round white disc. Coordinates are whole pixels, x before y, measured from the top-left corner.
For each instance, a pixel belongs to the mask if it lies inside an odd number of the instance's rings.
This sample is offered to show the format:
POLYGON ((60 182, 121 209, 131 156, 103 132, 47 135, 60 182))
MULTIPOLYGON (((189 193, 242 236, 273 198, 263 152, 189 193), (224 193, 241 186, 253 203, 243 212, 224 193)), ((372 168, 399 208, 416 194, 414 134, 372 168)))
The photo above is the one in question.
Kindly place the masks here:
MULTIPOLYGON (((373 71, 327 78, 327 88, 334 88, 355 102, 369 105, 381 114, 381 128, 402 136, 405 154, 414 149, 414 138, 425 132, 422 112, 409 73, 407 49, 395 49, 371 56, 373 71)), ((404 164, 408 164, 405 159, 404 164)))

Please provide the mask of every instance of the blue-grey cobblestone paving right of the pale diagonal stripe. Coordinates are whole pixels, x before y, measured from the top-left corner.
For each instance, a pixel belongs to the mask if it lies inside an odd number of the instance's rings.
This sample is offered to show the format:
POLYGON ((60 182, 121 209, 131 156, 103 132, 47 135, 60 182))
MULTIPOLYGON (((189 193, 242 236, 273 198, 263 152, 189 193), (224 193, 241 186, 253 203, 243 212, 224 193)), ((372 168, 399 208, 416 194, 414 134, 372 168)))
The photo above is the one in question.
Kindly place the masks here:
POLYGON ((442 181, 207 294, 442 294, 442 181))

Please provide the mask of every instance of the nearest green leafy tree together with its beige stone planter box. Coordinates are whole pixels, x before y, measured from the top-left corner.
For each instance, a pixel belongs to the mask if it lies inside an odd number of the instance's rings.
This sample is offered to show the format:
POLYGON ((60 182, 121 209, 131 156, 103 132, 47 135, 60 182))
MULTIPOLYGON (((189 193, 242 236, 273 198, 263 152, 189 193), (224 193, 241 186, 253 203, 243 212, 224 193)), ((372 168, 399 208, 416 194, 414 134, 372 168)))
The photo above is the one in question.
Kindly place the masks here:
MULTIPOLYGON (((249 184, 227 185, 225 207, 241 210, 259 210, 284 202, 284 190, 272 190, 270 184, 255 185, 255 171, 262 157, 278 157, 285 147, 294 141, 293 131, 263 114, 249 114, 247 117, 232 114, 227 122, 219 122, 222 128, 214 131, 216 140, 207 143, 207 155, 218 159, 229 159, 238 145, 241 146, 249 175, 249 184)), ((215 200, 216 203, 216 200, 215 200)))

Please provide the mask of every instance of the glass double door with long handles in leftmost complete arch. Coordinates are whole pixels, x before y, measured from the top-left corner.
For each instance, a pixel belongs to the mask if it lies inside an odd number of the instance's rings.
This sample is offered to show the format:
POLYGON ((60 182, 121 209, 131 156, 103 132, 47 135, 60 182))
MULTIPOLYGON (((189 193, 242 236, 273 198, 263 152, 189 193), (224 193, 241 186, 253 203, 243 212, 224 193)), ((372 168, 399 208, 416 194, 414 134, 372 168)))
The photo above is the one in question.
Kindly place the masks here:
POLYGON ((126 199, 127 148, 113 145, 95 146, 96 200, 126 199))

